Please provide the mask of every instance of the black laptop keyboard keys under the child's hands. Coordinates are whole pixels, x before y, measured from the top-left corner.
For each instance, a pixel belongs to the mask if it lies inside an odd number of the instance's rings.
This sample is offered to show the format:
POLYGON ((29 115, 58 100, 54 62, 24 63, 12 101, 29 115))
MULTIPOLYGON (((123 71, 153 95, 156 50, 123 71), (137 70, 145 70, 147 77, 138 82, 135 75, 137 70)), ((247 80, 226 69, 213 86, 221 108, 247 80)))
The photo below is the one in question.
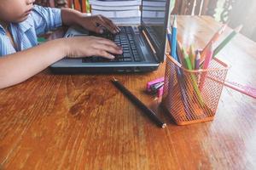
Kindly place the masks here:
POLYGON ((120 32, 118 34, 113 35, 111 32, 105 32, 103 34, 97 34, 94 32, 90 32, 90 36, 96 37, 104 37, 123 48, 123 54, 113 54, 115 56, 114 59, 105 59, 102 57, 86 57, 82 59, 83 62, 131 62, 131 61, 142 61, 143 59, 139 55, 137 51, 136 44, 134 42, 134 38, 131 34, 132 28, 131 26, 120 26, 120 32))

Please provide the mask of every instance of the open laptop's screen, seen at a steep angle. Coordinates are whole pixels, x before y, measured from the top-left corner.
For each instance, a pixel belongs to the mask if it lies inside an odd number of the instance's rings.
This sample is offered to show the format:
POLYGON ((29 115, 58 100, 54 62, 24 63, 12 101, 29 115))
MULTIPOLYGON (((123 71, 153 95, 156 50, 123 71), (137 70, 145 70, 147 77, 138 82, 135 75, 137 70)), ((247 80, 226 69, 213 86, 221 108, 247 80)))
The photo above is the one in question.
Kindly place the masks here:
POLYGON ((170 0, 142 1, 142 26, 160 60, 163 60, 165 56, 166 26, 170 15, 169 2, 170 0))

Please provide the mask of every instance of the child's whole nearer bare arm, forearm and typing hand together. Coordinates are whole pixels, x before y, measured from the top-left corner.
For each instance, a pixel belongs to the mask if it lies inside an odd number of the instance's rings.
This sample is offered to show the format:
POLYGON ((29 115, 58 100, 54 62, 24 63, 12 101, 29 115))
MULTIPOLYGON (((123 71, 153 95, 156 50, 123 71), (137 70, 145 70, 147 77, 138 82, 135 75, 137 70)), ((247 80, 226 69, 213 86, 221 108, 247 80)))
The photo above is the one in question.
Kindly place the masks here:
POLYGON ((116 44, 101 37, 71 37, 44 42, 0 58, 0 89, 25 81, 65 56, 99 55, 113 59, 112 54, 121 53, 116 44))

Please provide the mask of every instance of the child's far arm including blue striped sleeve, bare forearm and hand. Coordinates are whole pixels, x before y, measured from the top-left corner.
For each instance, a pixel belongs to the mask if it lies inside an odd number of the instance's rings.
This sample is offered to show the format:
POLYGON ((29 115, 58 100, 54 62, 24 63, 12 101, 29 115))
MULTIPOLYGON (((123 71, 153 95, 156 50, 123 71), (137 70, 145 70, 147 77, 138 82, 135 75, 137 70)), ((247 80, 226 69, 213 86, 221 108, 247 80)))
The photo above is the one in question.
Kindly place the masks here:
POLYGON ((35 5, 32 20, 37 35, 54 30, 61 25, 82 26, 86 30, 96 31, 97 33, 102 33, 104 28, 112 33, 119 32, 119 27, 115 26, 108 18, 102 15, 86 16, 86 14, 71 8, 43 8, 35 5))

